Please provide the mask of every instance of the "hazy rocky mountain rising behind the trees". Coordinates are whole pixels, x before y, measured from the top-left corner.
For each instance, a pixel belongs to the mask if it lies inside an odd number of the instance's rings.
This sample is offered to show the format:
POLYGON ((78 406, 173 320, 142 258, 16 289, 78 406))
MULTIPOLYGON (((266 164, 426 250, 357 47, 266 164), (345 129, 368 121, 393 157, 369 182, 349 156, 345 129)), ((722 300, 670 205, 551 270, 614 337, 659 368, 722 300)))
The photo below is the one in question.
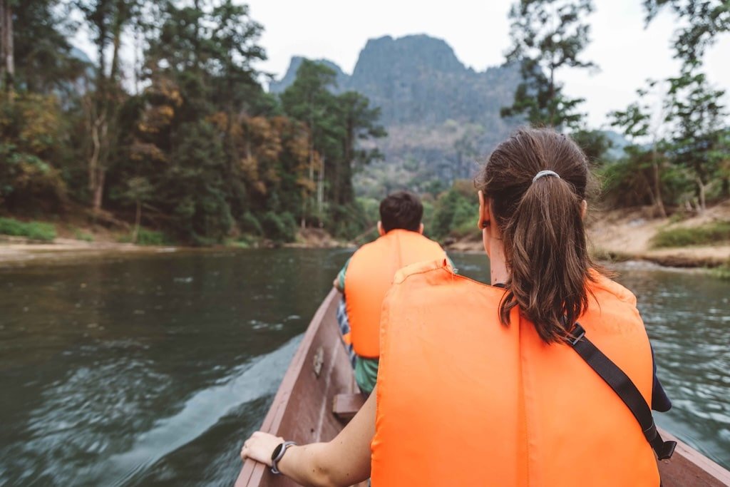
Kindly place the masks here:
MULTIPOLYGON (((280 93, 293 83, 302 58, 292 58, 285 76, 269 85, 280 93)), ((423 191, 430 180, 471 177, 485 156, 516 123, 499 117, 520 81, 516 67, 484 72, 467 68, 442 39, 413 35, 370 39, 353 74, 337 72, 337 91, 354 90, 382 111, 388 138, 379 140, 385 163, 358 174, 360 193, 382 196, 397 186, 423 191), (380 173, 383 173, 382 175, 380 173), (393 185, 393 180, 399 181, 393 185)))

